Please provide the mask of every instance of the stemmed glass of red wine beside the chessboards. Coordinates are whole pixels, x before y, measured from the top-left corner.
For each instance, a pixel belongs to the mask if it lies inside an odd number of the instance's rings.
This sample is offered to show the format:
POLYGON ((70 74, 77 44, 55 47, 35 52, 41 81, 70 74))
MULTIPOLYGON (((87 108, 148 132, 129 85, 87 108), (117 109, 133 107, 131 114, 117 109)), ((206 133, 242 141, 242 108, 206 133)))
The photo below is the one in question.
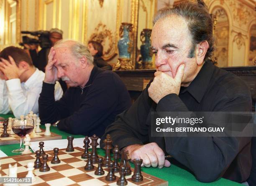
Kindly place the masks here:
POLYGON ((20 136, 20 148, 15 149, 12 153, 22 153, 24 151, 24 137, 34 128, 33 118, 14 118, 12 121, 13 132, 20 136))

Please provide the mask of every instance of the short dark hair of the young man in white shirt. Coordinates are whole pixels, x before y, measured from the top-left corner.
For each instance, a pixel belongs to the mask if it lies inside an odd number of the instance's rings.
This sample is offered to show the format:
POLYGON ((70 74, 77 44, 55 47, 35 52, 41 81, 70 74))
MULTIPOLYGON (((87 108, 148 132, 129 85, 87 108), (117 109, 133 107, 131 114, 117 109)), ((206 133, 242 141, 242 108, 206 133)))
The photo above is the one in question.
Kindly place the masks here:
POLYGON ((31 57, 21 48, 9 46, 0 52, 1 58, 10 61, 8 56, 11 56, 14 59, 16 65, 20 64, 21 61, 26 61, 29 66, 33 66, 31 57))

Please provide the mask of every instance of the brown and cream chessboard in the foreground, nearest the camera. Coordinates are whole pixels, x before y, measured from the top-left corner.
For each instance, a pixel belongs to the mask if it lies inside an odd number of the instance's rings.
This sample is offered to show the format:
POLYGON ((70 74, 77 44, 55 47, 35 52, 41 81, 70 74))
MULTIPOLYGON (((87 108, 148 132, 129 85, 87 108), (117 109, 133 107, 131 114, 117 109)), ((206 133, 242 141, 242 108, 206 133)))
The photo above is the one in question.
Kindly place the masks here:
MULTIPOLYGON (((94 164, 95 168, 90 171, 85 171, 84 166, 87 160, 82 159, 81 155, 84 149, 74 147, 73 152, 66 152, 65 149, 59 149, 58 157, 61 160, 59 164, 51 164, 51 159, 54 156, 53 151, 45 151, 48 154, 47 164, 50 167, 48 172, 40 172, 39 168, 33 171, 36 181, 31 184, 35 186, 116 186, 116 181, 120 177, 119 173, 115 173, 117 177, 115 181, 106 181, 105 176, 108 174, 108 168, 103 168, 105 174, 102 176, 96 176, 94 174, 97 164, 94 164)), ((9 163, 13 166, 17 163, 18 171, 17 177, 26 177, 27 164, 35 161, 35 153, 26 155, 15 155, 5 158, 0 158, 1 170, 0 173, 3 177, 8 175, 9 163)), ((131 168, 132 172, 134 171, 131 168)), ((128 181, 127 186, 168 186, 168 181, 164 181, 155 176, 141 172, 143 175, 143 181, 134 182, 131 180, 133 173, 130 176, 125 176, 128 181)))

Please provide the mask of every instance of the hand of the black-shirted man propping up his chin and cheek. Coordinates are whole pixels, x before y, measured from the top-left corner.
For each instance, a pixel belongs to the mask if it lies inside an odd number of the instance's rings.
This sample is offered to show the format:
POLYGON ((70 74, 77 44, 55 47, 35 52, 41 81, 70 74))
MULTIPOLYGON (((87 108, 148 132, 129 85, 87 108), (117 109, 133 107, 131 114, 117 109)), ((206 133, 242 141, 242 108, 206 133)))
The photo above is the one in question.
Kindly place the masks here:
POLYGON ((148 87, 148 95, 156 104, 168 94, 179 95, 180 86, 184 74, 184 64, 181 64, 177 70, 176 76, 165 74, 161 71, 155 72, 153 82, 148 87))

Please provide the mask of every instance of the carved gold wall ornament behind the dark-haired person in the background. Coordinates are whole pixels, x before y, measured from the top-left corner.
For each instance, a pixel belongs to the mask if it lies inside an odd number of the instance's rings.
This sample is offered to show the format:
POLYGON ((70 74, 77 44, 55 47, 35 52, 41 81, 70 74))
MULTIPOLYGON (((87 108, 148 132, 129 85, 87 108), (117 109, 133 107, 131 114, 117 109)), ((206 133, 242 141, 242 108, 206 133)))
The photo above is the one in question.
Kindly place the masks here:
POLYGON ((116 55, 116 43, 114 41, 115 38, 113 37, 113 33, 103 23, 99 23, 97 25, 97 27, 95 28, 95 32, 92 33, 92 35, 90 36, 90 40, 102 43, 102 46, 104 46, 104 48, 106 48, 106 44, 104 43, 108 43, 108 47, 104 51, 104 54, 102 56, 104 60, 112 59, 116 55))

